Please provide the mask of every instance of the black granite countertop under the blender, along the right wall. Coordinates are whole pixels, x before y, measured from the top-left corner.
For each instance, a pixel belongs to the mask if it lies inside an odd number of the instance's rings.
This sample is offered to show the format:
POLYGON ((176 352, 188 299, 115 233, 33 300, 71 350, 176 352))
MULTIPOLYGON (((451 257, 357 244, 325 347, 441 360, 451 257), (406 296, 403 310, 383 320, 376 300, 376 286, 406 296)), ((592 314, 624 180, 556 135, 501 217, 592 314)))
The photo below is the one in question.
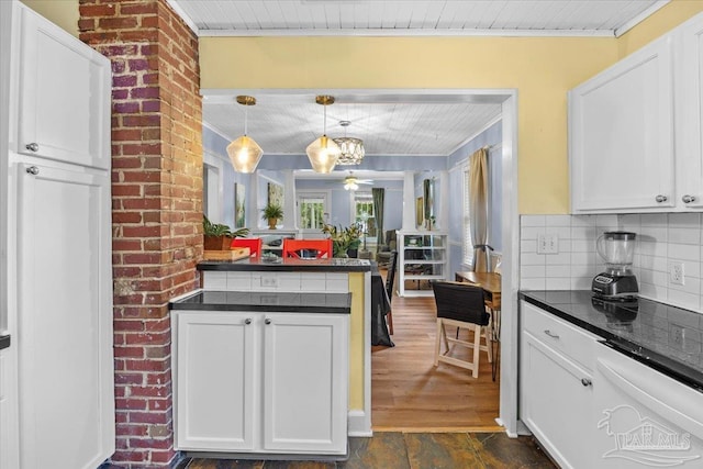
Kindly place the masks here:
POLYGON ((703 391, 703 314, 641 298, 603 302, 589 290, 521 291, 520 298, 703 391))

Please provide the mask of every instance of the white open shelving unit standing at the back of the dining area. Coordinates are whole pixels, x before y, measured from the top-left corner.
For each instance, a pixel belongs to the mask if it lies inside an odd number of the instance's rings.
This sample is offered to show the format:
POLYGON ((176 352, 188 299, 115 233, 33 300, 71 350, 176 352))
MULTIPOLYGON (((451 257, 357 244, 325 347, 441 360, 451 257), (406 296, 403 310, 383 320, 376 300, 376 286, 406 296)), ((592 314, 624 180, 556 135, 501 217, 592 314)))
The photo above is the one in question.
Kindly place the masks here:
POLYGON ((398 294, 432 297, 429 280, 447 280, 447 234, 443 232, 398 232, 398 294), (416 289, 405 288, 412 280, 416 289), (423 284, 426 282, 426 284, 423 284))

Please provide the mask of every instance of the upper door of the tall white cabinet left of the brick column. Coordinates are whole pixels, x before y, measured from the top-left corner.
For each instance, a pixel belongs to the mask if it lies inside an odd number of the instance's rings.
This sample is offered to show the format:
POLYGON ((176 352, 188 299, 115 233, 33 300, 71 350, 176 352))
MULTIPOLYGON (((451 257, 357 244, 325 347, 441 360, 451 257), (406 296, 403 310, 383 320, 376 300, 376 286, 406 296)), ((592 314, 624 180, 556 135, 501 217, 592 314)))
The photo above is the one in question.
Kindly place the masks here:
POLYGON ((110 167, 110 60, 20 8, 18 152, 110 167))

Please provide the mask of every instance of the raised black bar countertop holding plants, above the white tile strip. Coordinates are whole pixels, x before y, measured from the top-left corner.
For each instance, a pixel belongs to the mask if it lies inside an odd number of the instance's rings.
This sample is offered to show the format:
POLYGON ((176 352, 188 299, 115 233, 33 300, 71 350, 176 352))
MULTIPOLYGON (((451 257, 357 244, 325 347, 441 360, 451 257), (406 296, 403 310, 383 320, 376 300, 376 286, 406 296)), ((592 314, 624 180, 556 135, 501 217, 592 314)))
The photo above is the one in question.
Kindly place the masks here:
POLYGON ((198 270, 232 270, 232 271, 324 271, 324 272, 367 272, 371 270, 368 259, 282 259, 275 261, 266 257, 250 257, 241 260, 203 260, 198 264, 198 270))

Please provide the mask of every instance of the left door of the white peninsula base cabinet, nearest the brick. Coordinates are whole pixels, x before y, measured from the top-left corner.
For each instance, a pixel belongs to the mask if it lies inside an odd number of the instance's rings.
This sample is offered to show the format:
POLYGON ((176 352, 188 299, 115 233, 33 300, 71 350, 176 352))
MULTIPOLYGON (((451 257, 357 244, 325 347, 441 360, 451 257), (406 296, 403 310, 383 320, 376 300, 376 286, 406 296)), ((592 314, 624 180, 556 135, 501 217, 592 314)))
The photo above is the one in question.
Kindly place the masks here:
POLYGON ((255 314, 178 312, 176 449, 254 449, 255 314))

